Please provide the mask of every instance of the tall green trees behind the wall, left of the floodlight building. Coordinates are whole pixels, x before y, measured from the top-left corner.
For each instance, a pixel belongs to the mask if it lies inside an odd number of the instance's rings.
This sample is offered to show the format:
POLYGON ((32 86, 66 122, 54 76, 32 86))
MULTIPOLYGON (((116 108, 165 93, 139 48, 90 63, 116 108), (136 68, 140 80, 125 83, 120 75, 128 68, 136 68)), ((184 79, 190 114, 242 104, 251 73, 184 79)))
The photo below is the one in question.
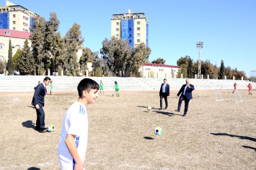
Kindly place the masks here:
MULTIPOLYGON (((67 31, 65 37, 61 37, 58 31, 60 21, 55 12, 50 13, 50 19, 35 18, 31 29, 31 46, 25 41, 22 49, 18 49, 12 58, 12 45, 9 52, 8 63, 0 63, 0 72, 5 66, 12 75, 14 70, 20 71, 20 75, 46 75, 46 71, 58 72, 61 75, 80 75, 88 69, 87 63, 93 63, 95 76, 120 75, 123 77, 138 75, 140 65, 147 61, 151 52, 145 44, 135 48, 129 46, 127 40, 111 37, 102 41, 99 52, 93 52, 89 48, 83 48, 84 38, 80 31, 80 25, 74 23, 67 31), (78 60, 78 50, 82 55, 78 60)), ((10 40, 11 44, 11 40, 10 40)))

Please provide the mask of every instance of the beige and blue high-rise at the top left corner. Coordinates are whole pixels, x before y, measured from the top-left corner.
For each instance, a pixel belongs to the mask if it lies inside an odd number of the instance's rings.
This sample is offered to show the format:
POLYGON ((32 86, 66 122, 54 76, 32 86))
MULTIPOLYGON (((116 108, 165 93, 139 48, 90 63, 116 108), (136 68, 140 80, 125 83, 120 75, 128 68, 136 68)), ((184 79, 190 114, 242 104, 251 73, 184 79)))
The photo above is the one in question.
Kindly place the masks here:
POLYGON ((5 6, 0 6, 0 29, 31 32, 33 22, 38 15, 21 5, 6 1, 5 6))

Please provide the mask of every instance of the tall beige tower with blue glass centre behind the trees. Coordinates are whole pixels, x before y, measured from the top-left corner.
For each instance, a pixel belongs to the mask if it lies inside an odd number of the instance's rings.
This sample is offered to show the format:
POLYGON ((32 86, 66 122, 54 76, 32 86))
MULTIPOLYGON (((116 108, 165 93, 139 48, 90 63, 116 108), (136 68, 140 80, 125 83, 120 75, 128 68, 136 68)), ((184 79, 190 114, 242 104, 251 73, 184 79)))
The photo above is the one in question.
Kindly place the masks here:
POLYGON ((148 22, 144 13, 113 14, 111 36, 128 39, 133 48, 144 43, 148 46, 148 22))

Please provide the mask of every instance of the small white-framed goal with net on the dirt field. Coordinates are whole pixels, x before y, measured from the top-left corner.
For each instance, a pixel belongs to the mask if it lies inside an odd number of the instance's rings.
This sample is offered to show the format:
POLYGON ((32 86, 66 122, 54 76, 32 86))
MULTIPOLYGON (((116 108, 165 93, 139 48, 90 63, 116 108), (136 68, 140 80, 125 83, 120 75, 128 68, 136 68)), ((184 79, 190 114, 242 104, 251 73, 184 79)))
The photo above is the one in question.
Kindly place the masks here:
POLYGON ((215 89, 215 101, 234 101, 242 102, 242 97, 238 90, 234 89, 215 89))

